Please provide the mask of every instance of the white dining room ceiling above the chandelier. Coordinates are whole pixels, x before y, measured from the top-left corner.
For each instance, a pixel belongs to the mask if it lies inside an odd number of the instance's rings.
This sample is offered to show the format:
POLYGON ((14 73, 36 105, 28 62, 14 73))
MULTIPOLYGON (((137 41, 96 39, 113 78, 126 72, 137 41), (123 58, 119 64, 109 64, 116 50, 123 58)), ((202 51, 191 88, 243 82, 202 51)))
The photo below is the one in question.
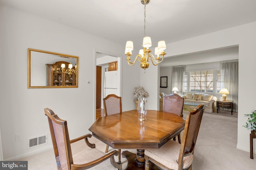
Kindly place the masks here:
MULTIPOLYGON (((140 0, 0 0, 125 46, 140 49, 144 5, 140 0)), ((146 5, 146 36, 152 46, 172 43, 256 21, 256 0, 151 0, 146 5)))

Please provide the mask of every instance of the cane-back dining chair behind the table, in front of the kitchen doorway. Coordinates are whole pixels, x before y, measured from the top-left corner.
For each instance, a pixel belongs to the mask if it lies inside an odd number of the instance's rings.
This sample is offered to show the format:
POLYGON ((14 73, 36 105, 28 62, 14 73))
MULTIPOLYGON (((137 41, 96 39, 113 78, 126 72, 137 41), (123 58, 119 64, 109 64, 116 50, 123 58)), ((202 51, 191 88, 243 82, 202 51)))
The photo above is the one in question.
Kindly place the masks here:
MULTIPOLYGON (((104 115, 112 115, 116 113, 122 113, 122 98, 115 94, 109 94, 103 99, 104 115)), ((108 152, 108 145, 106 146, 106 153, 108 152)), ((118 149, 118 163, 121 161, 121 150, 118 149)))

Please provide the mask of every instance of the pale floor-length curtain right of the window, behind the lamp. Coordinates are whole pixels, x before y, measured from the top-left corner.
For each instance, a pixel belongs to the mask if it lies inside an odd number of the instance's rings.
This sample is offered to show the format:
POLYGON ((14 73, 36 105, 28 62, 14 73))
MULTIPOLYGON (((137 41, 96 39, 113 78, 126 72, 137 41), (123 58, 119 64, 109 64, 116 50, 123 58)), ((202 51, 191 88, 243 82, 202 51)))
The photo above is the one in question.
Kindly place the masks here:
POLYGON ((233 111, 238 111, 238 60, 220 62, 221 86, 230 94, 226 100, 233 100, 233 111))

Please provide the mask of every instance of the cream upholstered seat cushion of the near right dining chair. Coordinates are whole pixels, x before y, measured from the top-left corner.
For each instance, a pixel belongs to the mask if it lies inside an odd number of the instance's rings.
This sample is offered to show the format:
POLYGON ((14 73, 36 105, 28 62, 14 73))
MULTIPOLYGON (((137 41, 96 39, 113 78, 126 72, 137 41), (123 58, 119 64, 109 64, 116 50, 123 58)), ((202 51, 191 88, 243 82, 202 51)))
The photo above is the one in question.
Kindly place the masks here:
MULTIPOLYGON (((178 170, 178 158, 180 154, 180 144, 175 141, 168 141, 160 149, 146 149, 145 155, 167 166, 170 169, 178 170)), ((184 156, 183 169, 189 167, 193 162, 193 154, 184 156)))

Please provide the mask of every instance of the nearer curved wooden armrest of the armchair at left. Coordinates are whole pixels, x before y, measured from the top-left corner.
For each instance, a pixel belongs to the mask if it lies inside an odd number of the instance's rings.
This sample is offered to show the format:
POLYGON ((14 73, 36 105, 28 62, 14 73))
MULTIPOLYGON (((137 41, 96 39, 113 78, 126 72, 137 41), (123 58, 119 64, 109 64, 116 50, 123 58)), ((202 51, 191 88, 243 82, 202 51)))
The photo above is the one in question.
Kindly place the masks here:
POLYGON ((115 168, 121 169, 122 164, 117 164, 114 159, 114 156, 118 156, 118 154, 119 154, 119 152, 117 150, 113 150, 112 152, 110 152, 94 161, 88 162, 86 164, 71 164, 71 169, 72 170, 83 170, 84 167, 86 167, 86 169, 92 168, 93 166, 100 164, 101 162, 103 162, 104 160, 107 160, 108 158, 110 158, 110 162, 115 168))

